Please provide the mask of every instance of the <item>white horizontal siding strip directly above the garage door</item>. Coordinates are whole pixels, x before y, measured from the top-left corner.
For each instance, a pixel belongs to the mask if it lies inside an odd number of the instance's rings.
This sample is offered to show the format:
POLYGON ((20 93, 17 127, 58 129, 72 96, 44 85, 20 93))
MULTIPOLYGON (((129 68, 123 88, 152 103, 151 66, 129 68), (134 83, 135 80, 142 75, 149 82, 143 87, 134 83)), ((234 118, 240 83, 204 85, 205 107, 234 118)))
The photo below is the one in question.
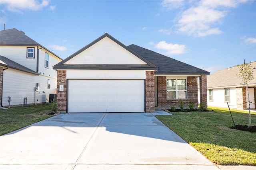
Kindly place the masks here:
POLYGON ((146 79, 145 70, 67 70, 67 79, 146 79))

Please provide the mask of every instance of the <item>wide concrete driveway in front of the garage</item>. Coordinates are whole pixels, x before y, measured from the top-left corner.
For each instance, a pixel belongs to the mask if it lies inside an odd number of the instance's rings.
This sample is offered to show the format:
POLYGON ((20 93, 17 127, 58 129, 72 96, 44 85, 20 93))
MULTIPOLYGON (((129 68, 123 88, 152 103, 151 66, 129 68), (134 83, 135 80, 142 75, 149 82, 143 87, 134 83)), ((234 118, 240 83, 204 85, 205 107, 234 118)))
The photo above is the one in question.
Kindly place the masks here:
POLYGON ((1 136, 0 169, 218 168, 151 113, 73 113, 1 136))

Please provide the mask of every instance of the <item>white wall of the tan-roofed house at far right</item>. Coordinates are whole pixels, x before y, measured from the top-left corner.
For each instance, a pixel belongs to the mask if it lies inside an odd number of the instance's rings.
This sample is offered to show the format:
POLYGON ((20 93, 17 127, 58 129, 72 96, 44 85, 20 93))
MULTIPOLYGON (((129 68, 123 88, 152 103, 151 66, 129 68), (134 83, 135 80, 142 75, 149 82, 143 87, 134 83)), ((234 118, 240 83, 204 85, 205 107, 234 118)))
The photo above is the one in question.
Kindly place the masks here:
MULTIPOLYGON (((230 102, 228 103, 230 108, 236 109, 236 88, 229 88, 230 102)), ((212 90, 213 102, 209 101, 209 90, 207 90, 208 106, 214 107, 228 107, 224 99, 224 88, 216 88, 212 90)))

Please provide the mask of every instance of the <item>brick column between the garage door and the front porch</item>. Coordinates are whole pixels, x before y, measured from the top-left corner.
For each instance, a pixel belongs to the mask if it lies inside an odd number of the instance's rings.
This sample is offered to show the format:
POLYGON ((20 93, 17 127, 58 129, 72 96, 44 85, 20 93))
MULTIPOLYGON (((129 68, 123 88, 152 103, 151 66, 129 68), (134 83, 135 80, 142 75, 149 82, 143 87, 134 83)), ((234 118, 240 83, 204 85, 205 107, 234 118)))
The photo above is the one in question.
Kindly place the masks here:
POLYGON ((155 112, 154 71, 146 71, 146 112, 155 112))

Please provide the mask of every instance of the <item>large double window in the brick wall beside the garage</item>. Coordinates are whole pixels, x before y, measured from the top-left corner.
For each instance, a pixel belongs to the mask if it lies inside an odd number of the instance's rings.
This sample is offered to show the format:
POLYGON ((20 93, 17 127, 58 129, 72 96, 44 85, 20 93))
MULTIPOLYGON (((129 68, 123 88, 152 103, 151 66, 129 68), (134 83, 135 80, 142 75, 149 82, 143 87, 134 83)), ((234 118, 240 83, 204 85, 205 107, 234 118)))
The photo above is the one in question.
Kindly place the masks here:
POLYGON ((167 79, 167 99, 187 99, 186 79, 167 79))

